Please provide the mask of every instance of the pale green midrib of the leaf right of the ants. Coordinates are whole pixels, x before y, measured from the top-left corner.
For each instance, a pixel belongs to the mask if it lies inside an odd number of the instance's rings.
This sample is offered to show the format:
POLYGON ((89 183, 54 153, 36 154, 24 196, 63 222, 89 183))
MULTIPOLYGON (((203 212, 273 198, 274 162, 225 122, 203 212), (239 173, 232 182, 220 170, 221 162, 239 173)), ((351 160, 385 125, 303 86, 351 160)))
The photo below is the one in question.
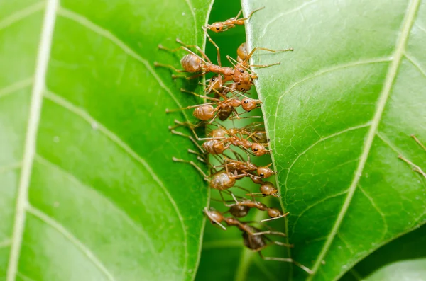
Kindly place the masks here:
POLYGON ((383 86, 383 90, 381 92, 381 95, 378 99, 378 105, 376 107, 376 113, 374 114, 373 120, 371 121, 371 127, 370 130, 368 130, 368 134, 366 136, 366 142, 364 144, 364 149, 361 153, 361 158, 359 160, 359 165, 356 168, 356 172, 354 174, 354 179, 351 182, 351 185, 349 186, 349 192, 346 196, 346 199, 344 201, 344 204, 342 206, 341 211, 339 212, 339 215, 337 216, 336 222, 334 223, 334 226, 332 228, 332 231, 330 232, 329 236, 327 237, 327 241, 324 243, 324 246, 320 252, 320 255, 315 260, 314 267, 312 268, 312 275, 307 277, 307 281, 312 280, 312 278, 317 273, 317 270, 320 268, 321 262, 324 258, 324 256, 327 254, 327 251, 329 250, 329 247, 332 245, 332 241, 334 241, 334 236, 336 236, 337 231, 339 229, 340 224, 342 224, 342 221, 344 219, 344 216, 349 208, 349 205, 351 203, 352 197, 354 196, 356 185, 359 183, 359 179, 361 178, 361 174, 364 171, 364 166, 366 164, 366 161, 368 159, 368 155, 370 153, 374 137, 376 137, 378 125, 381 122, 381 117, 383 115, 383 111, 386 106, 386 102, 388 101, 388 97, 391 93, 391 88, 393 86, 393 81, 395 81, 396 74, 398 73, 398 68, 400 66, 400 62, 404 56, 405 52, 405 45, 407 44, 408 37, 410 35, 411 27, 413 26, 413 22, 415 19, 415 14, 417 13, 417 9, 420 6, 421 0, 412 0, 410 1, 410 4, 408 5, 407 12, 405 13, 405 17, 403 19, 403 30, 400 34, 400 37, 398 38, 396 45, 395 45, 395 52, 393 56, 393 60, 391 62, 391 65, 389 66, 388 73, 386 74, 385 83, 383 86))

